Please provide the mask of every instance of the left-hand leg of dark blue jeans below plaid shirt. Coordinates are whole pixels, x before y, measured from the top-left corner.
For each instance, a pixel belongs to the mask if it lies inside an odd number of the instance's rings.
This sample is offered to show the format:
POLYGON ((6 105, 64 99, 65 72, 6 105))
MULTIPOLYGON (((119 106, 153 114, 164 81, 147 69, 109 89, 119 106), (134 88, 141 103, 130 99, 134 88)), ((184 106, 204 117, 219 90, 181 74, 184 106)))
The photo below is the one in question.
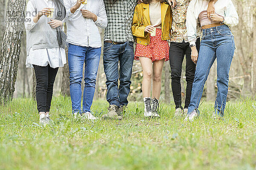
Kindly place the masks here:
POLYGON ((103 65, 106 74, 107 101, 110 105, 119 107, 118 102, 118 62, 119 62, 120 45, 113 43, 104 43, 103 48, 103 65))

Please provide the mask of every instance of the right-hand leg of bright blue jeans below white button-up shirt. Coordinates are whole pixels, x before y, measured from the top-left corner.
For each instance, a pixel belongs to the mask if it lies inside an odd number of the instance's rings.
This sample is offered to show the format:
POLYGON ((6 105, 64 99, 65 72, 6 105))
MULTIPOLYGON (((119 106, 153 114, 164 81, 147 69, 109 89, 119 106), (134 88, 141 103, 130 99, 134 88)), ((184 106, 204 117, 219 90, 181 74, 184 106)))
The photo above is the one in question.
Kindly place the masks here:
POLYGON ((101 48, 89 47, 84 60, 83 112, 90 112, 96 86, 101 48))

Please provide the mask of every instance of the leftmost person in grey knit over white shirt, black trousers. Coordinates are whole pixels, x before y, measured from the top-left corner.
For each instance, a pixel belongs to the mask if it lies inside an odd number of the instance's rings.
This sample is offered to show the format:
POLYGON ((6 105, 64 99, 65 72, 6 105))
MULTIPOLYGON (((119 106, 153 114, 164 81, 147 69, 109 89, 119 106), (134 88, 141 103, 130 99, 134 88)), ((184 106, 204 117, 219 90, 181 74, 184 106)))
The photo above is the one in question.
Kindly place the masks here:
POLYGON ((66 64, 66 16, 63 0, 29 0, 26 7, 26 67, 34 68, 39 122, 49 124, 53 84, 59 67, 66 64), (53 14, 51 8, 54 9, 53 14), (51 17, 48 17, 49 15, 51 17))

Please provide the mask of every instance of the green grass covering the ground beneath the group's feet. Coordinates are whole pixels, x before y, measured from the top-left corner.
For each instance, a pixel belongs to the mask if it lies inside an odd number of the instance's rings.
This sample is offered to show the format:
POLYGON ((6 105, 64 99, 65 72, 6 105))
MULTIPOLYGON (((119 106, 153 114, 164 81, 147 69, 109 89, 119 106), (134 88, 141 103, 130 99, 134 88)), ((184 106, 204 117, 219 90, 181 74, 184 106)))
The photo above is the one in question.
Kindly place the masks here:
MULTIPOLYGON (((161 118, 143 118, 143 103, 131 102, 122 121, 73 122, 69 98, 52 101, 54 125, 37 125, 32 99, 0 106, 2 170, 201 170, 256 169, 256 103, 228 102, 225 118, 210 118, 203 102, 195 122, 174 118, 162 105, 161 118)), ((96 116, 108 103, 93 102, 96 116)))

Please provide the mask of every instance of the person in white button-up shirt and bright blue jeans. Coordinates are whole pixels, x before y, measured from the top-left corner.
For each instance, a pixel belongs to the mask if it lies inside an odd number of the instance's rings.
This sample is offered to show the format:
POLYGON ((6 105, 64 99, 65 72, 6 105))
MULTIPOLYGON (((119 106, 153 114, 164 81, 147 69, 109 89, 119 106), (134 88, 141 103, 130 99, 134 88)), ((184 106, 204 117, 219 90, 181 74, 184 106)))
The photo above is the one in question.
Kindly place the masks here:
POLYGON ((105 4, 103 0, 64 0, 64 4, 67 11, 65 21, 73 116, 75 119, 98 119, 90 108, 102 47, 98 27, 104 29, 108 24, 105 4), (85 85, 81 109, 83 65, 85 85))

